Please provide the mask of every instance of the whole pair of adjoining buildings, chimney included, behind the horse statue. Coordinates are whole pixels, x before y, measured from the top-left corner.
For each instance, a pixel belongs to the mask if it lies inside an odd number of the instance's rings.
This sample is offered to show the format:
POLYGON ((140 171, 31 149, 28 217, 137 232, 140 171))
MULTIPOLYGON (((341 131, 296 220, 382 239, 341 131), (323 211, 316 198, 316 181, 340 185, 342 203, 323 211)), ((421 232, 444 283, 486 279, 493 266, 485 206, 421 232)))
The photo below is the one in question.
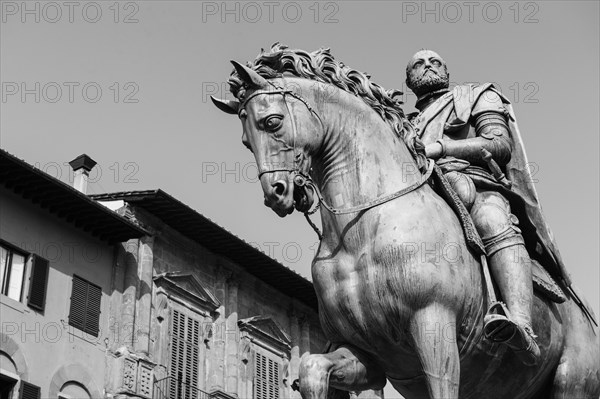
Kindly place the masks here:
POLYGON ((93 164, 0 150, 0 399, 300 398, 312 284, 161 190, 85 195, 93 164))

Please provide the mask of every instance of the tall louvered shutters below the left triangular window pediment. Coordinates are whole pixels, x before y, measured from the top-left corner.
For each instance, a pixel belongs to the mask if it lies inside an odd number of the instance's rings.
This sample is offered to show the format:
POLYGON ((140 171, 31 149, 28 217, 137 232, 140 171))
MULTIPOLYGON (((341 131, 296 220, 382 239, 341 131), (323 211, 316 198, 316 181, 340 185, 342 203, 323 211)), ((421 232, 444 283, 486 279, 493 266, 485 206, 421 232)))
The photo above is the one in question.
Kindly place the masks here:
POLYGON ((198 394, 200 322, 173 310, 169 397, 190 399, 198 394))

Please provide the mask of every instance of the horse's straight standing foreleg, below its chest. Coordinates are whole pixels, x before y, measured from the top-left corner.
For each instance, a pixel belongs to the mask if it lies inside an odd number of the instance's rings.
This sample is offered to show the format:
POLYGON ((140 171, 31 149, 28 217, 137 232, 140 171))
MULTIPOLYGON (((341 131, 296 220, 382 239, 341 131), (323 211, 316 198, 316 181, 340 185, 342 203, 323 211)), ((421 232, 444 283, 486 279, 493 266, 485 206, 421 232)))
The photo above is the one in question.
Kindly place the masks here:
POLYGON ((411 335, 429 397, 458 398, 460 359, 455 316, 441 305, 421 309, 414 315, 411 335))

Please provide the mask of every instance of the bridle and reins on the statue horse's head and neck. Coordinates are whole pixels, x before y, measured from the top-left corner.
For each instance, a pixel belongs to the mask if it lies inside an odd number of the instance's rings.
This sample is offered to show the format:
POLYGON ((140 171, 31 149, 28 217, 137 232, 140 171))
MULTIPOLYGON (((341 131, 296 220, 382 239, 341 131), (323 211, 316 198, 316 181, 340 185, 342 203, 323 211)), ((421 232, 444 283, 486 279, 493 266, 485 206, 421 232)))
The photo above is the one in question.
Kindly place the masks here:
POLYGON ((259 95, 272 95, 272 94, 280 94, 283 96, 283 102, 285 104, 285 107, 287 109, 288 115, 290 116, 290 120, 292 122, 292 148, 293 148, 293 158, 294 158, 294 168, 290 169, 290 168, 276 168, 276 169, 268 169, 268 170, 260 170, 260 165, 258 165, 259 167, 259 173, 258 173, 258 178, 260 179, 260 177, 264 174, 267 173, 275 173, 275 172, 289 172, 289 173, 293 173, 294 177, 293 177, 293 181, 294 181, 294 185, 298 186, 299 188, 303 188, 303 187, 309 187, 311 190, 313 190, 316 194, 317 197, 319 198, 319 202, 317 203, 317 206, 312 210, 312 211, 305 211, 304 212, 304 216, 306 217, 308 223, 311 225, 311 227, 315 230, 315 232, 317 233, 317 235, 319 236, 319 240, 323 238, 323 235, 321 234, 321 232, 319 231, 319 229, 317 228, 317 226, 310 220, 309 215, 314 214, 320 207, 320 205, 322 204, 323 207, 325 207, 325 209, 327 209, 329 212, 331 212, 334 215, 344 215, 344 214, 349 214, 349 213, 356 213, 356 212, 360 212, 366 209, 370 209, 373 208, 375 206, 384 204, 386 202, 389 202, 391 200, 394 200, 398 197, 401 197, 403 195, 406 195, 416 189, 418 189, 419 187, 421 187, 423 184, 425 184, 425 182, 427 182, 429 180, 429 178, 431 177, 431 173, 433 172, 433 167, 435 165, 434 161, 432 159, 429 159, 429 164, 427 166, 427 171, 425 172, 425 174, 423 174, 421 176, 421 179, 418 180, 417 182, 411 184, 408 187, 405 187, 401 190, 398 190, 392 194, 388 194, 388 195, 384 195, 381 197, 377 197, 374 200, 371 200, 365 204, 361 204, 361 205, 357 205, 357 206, 353 206, 351 208, 344 208, 344 209, 337 209, 332 207, 331 205, 329 205, 325 199, 323 198, 323 196, 321 195, 321 192, 319 191, 319 189, 317 188, 316 184, 314 183, 313 179, 307 174, 304 173, 303 171, 300 170, 299 165, 298 165, 298 156, 296 154, 296 133, 297 133, 297 126, 296 126, 296 120, 294 118, 293 113, 291 112, 290 106, 288 104, 288 101, 286 99, 286 95, 289 95, 291 97, 294 97, 295 99, 299 100, 301 103, 303 103, 306 108, 310 111, 310 113, 312 115, 314 115, 318 120, 319 123, 321 124, 321 126, 323 127, 323 120, 321 119, 321 116, 317 113, 317 111, 315 111, 313 109, 313 107, 310 106, 310 104, 308 103, 308 101, 306 101, 304 98, 302 98, 302 96, 294 93, 292 90, 289 89, 285 89, 281 86, 277 86, 272 82, 267 81, 268 84, 270 84, 273 87, 273 90, 257 90, 254 93, 252 93, 250 96, 248 96, 248 98, 245 98, 244 101, 241 103, 240 107, 239 107, 239 111, 238 111, 238 116, 240 116, 241 118, 241 112, 244 111, 246 109, 246 105, 248 104, 248 102, 250 100, 252 100, 254 97, 259 96, 259 95))

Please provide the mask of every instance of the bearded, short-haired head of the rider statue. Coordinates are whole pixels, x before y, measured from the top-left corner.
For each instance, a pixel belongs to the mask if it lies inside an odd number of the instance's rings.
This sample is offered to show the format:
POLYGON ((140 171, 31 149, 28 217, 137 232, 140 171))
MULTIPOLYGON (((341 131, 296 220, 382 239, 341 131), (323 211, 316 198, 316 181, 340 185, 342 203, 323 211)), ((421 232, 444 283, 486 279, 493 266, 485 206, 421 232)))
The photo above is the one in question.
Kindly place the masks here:
POLYGON ((449 85, 446 62, 435 51, 418 51, 406 66, 406 86, 419 99, 431 92, 447 89, 449 85))

